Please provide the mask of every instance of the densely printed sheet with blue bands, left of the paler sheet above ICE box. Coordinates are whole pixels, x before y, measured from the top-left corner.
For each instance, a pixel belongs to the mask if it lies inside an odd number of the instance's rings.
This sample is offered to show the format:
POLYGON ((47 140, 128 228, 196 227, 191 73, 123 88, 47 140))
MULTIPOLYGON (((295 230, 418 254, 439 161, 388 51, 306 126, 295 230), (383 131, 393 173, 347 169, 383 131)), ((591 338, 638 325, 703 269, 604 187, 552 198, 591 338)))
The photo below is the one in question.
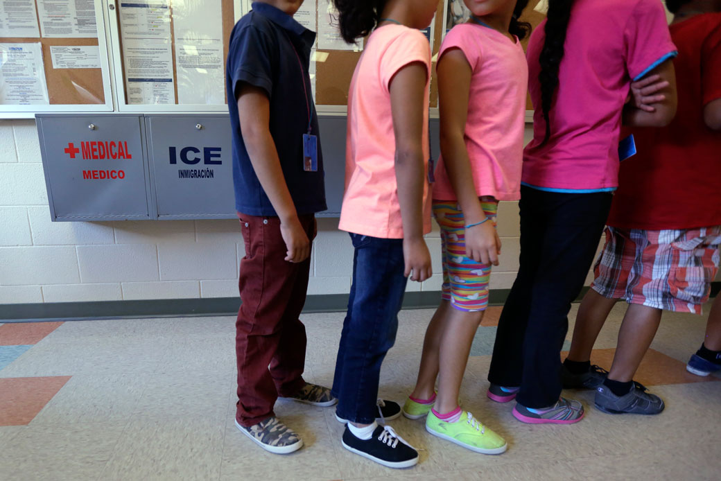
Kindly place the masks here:
POLYGON ((168 1, 123 1, 120 34, 128 104, 174 104, 168 1))

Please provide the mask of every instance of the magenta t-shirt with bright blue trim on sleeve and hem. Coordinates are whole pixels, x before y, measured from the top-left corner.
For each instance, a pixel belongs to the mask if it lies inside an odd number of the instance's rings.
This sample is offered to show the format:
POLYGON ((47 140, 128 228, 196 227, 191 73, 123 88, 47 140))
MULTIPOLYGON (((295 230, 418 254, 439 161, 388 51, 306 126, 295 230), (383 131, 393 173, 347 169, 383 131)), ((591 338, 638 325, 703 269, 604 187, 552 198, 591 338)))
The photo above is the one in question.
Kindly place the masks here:
POLYGON ((523 183, 545 190, 614 190, 619 177, 622 110, 632 79, 676 55, 658 0, 575 2, 551 108, 551 138, 541 146, 539 55, 545 21, 528 44, 534 140, 524 154, 523 183))

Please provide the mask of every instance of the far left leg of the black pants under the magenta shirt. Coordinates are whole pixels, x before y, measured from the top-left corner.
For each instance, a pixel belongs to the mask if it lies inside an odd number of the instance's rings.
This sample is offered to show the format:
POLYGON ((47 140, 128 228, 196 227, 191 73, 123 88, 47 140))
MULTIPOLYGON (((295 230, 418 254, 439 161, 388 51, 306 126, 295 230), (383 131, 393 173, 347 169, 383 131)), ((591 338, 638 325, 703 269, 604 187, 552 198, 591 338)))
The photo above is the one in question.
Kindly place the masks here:
POLYGON ((504 387, 521 386, 523 340, 530 315, 531 290, 543 254, 542 243, 549 212, 540 200, 542 193, 521 187, 521 257, 513 288, 498 321, 488 380, 504 387))

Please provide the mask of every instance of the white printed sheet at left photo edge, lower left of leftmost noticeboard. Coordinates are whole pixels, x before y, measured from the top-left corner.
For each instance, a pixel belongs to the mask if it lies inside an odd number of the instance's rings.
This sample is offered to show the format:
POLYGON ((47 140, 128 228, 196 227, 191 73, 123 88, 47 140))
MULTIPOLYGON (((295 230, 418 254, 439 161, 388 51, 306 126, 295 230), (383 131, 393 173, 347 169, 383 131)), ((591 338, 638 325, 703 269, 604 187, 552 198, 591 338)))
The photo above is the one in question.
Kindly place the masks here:
POLYGON ((0 104, 48 105, 43 45, 0 43, 0 104))

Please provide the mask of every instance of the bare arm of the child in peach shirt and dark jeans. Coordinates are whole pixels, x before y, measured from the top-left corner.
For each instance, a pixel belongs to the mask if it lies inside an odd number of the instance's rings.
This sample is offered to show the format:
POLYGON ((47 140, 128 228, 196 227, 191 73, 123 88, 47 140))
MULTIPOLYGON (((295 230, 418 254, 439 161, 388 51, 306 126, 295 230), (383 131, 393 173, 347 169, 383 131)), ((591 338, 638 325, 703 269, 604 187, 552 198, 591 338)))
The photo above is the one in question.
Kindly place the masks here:
POLYGON ((396 138, 396 182, 403 221, 405 275, 423 282, 433 274, 430 252, 423 240, 423 99, 428 68, 410 63, 391 80, 391 108, 396 138))

